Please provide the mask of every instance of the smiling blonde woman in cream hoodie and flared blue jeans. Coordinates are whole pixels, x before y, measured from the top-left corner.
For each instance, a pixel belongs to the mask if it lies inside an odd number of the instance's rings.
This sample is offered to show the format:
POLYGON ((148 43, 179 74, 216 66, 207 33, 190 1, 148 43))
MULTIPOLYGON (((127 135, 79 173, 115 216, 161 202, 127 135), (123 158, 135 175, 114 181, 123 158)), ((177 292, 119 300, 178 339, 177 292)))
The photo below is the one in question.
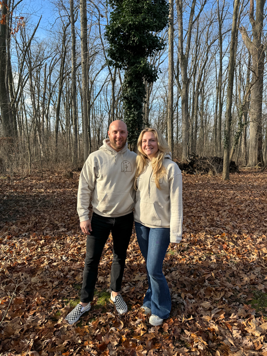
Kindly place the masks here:
POLYGON ((152 313, 149 322, 156 326, 169 317, 171 309, 162 265, 169 243, 182 240, 182 174, 158 130, 144 129, 137 149, 134 221, 149 281, 141 308, 145 314, 152 313))

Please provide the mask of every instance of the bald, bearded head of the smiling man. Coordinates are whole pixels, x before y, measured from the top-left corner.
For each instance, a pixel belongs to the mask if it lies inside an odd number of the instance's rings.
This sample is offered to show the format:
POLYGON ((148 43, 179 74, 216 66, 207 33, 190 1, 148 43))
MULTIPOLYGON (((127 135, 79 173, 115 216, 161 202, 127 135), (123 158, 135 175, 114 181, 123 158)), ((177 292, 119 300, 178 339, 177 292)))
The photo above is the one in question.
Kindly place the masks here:
POLYGON ((126 144, 127 136, 127 126, 123 121, 115 120, 109 125, 108 137, 113 150, 121 151, 126 144))

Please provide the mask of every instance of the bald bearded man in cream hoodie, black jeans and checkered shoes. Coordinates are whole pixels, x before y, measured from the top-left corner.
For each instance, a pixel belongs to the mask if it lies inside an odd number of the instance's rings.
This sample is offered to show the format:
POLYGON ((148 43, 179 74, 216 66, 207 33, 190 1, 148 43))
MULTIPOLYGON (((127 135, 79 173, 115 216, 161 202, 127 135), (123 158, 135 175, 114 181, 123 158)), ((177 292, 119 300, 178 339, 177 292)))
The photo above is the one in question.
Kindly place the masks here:
POLYGON ((120 290, 133 228, 136 158, 136 154, 127 148, 127 135, 126 124, 113 121, 109 126, 109 139, 105 139, 100 149, 87 158, 80 174, 77 211, 81 230, 87 234, 86 257, 80 303, 67 315, 69 324, 91 308, 98 264, 110 230, 113 238, 110 298, 118 313, 127 312, 120 290), (91 194, 93 216, 90 221, 91 194))

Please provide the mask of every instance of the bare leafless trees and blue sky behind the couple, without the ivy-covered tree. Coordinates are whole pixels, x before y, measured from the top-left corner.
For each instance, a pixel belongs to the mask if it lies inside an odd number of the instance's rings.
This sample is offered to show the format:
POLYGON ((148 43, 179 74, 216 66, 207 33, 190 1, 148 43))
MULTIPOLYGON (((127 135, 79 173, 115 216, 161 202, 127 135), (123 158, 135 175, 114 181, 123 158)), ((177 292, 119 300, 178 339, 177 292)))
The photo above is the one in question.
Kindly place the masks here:
MULTIPOLYGON (((1 3, 3 172, 80 168, 109 123, 124 120, 125 69, 108 56, 112 3, 50 1, 46 25, 47 14, 29 13, 26 0, 1 3)), ((156 80, 143 76, 140 84, 142 127, 163 132, 178 161, 225 156, 264 167, 265 1, 168 5, 169 19, 157 32, 162 45, 146 56, 156 80)))

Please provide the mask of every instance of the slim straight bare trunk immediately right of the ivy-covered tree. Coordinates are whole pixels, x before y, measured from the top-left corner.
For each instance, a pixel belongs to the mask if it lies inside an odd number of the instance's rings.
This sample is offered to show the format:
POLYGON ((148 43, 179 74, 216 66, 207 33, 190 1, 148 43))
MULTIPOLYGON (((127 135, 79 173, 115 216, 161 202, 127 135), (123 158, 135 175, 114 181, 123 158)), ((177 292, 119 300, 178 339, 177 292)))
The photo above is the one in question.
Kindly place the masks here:
POLYGON ((168 69, 168 120, 167 120, 167 128, 168 128, 168 145, 173 157, 173 0, 169 0, 169 69, 168 69))

